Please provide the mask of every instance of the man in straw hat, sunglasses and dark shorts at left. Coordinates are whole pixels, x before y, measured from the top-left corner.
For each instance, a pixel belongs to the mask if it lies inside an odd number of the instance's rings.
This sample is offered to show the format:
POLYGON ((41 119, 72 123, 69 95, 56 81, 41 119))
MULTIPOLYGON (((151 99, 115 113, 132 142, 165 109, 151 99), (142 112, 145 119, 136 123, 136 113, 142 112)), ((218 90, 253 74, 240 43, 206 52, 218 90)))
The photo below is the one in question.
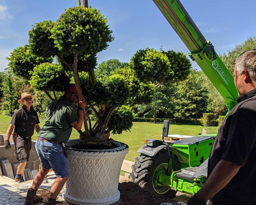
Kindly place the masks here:
POLYGON ((17 174, 15 176, 16 182, 24 182, 23 172, 27 162, 29 161, 29 153, 31 150, 31 136, 34 134, 34 129, 39 132, 39 119, 36 111, 31 107, 32 100, 36 97, 29 93, 22 93, 21 99, 18 103, 22 103, 23 107, 18 109, 13 114, 11 123, 7 129, 5 137, 5 149, 11 148, 9 138, 14 129, 14 143, 16 148, 16 156, 19 161, 17 174))

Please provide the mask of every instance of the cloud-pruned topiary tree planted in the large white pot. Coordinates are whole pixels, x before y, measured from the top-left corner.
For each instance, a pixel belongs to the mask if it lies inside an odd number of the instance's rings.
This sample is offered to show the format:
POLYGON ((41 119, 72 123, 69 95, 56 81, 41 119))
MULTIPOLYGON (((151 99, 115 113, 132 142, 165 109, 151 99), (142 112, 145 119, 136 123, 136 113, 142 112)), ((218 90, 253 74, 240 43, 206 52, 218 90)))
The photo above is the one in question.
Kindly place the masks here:
POLYGON ((87 104, 85 131, 80 132, 83 142, 106 141, 111 131, 120 134, 129 130, 132 127, 131 107, 136 103, 149 103, 155 84, 168 81, 170 76, 174 79, 170 57, 149 48, 138 51, 129 65, 115 70, 110 68, 107 75, 95 78, 95 56, 113 41, 111 33, 107 19, 97 9, 81 6, 66 9, 55 23, 37 23, 29 32, 33 53, 41 57, 56 56, 60 62, 37 66, 32 72, 31 84, 35 87, 41 84, 38 87, 41 90, 54 90, 53 82, 58 79, 62 79, 58 82, 69 82, 63 80, 67 77, 64 73, 72 71, 75 85, 82 87, 79 97, 83 94, 87 104), (93 126, 88 116, 91 111, 97 116, 93 126))

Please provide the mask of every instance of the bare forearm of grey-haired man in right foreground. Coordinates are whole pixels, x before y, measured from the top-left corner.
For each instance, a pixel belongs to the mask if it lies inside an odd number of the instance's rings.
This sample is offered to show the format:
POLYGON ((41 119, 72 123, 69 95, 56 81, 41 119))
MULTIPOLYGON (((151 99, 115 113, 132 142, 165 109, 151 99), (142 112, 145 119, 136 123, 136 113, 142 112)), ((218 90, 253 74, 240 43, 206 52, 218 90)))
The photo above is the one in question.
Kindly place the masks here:
POLYGON ((241 166, 232 162, 220 160, 202 189, 197 193, 197 198, 202 201, 208 201, 230 182, 240 168, 241 166))

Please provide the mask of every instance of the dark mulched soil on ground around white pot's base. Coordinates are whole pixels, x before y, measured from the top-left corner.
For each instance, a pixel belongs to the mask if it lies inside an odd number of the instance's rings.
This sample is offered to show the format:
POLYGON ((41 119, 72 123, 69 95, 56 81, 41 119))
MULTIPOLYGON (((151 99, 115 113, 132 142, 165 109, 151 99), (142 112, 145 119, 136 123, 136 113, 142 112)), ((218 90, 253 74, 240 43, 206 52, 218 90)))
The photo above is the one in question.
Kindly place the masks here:
MULTIPOLYGON (((180 203, 164 196, 159 196, 132 182, 119 183, 118 190, 120 191, 120 200, 115 205, 181 205, 180 203)), ((47 201, 49 191, 39 189, 38 194, 43 197, 43 202, 47 201)), ((70 203, 58 202, 57 205, 70 205, 70 203)))

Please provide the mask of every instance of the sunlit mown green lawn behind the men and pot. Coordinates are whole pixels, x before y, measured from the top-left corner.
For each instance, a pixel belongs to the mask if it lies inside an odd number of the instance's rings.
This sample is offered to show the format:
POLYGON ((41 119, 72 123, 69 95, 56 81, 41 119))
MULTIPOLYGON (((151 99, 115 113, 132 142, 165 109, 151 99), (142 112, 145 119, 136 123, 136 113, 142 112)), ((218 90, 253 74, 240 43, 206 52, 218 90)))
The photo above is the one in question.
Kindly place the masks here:
MULTIPOLYGON (((0 115, 0 134, 6 132, 9 126, 11 117, 0 115)), ((44 120, 40 120, 40 127, 43 127, 44 120)), ((135 161, 135 157, 139 155, 138 148, 140 148, 145 139, 153 138, 160 139, 163 132, 163 123, 148 123, 148 122, 134 122, 131 132, 123 132, 120 135, 111 135, 111 138, 116 141, 121 141, 129 145, 129 153, 125 159, 135 161)), ((218 127, 202 127, 200 125, 185 125, 185 124, 171 124, 169 128, 169 134, 181 134, 181 135, 198 135, 202 133, 202 129, 206 128, 209 134, 218 132, 218 127)), ((32 136, 32 139, 36 139, 36 133, 32 136)), ((73 129, 70 139, 78 139, 78 132, 73 129)))

